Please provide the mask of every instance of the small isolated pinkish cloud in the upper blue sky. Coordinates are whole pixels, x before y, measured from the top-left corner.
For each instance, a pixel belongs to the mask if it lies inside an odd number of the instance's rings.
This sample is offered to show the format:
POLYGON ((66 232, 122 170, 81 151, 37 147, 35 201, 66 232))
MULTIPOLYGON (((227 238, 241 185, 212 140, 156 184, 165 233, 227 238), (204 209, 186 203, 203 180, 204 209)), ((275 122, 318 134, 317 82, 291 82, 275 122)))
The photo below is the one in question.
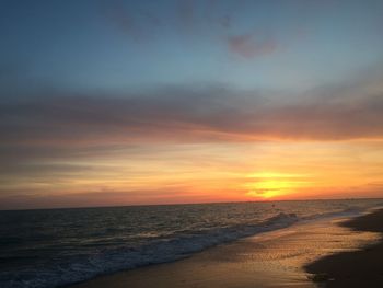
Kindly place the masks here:
POLYGON ((278 49, 274 39, 257 39, 252 34, 243 34, 228 37, 229 49, 244 58, 272 54, 278 49))

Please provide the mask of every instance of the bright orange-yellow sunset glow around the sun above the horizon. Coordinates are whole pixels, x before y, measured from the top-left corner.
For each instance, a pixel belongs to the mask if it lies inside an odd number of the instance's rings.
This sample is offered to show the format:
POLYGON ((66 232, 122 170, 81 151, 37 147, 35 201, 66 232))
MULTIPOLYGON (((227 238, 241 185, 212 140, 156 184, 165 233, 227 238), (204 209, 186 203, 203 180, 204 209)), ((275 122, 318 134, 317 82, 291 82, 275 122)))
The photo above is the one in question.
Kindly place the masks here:
POLYGON ((383 149, 376 140, 166 143, 140 149, 137 155, 120 148, 71 159, 71 168, 89 169, 65 174, 53 170, 10 178, 5 185, 27 191, 26 206, 30 200, 43 207, 382 196, 383 149))

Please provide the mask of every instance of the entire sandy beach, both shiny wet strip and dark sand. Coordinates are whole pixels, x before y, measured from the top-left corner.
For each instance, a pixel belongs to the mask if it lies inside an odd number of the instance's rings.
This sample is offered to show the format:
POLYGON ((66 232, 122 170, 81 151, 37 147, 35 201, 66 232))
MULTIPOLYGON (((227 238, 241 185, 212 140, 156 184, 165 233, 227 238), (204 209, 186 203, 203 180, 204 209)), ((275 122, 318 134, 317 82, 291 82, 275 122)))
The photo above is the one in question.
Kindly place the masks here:
POLYGON ((100 276, 71 287, 262 288, 317 287, 324 283, 340 287, 338 279, 344 283, 346 276, 351 277, 345 280, 350 287, 353 276, 360 285, 367 275, 370 283, 382 283, 381 266, 376 264, 381 261, 382 244, 371 246, 381 239, 382 220, 380 210, 351 221, 333 218, 299 223, 208 249, 174 263, 100 276), (369 249, 364 249, 367 245, 369 249), (365 268, 355 274, 356 263, 365 268))

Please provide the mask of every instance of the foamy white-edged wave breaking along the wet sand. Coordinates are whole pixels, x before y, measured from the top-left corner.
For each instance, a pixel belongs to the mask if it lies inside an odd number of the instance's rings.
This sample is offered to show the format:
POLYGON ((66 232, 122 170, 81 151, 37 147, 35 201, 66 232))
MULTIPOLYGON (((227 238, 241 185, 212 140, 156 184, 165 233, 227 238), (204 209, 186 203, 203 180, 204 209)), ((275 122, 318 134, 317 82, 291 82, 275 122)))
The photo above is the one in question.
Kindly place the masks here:
POLYGON ((213 245, 227 243, 260 232, 289 227, 299 221, 325 217, 353 216, 360 208, 348 208, 341 212, 313 215, 300 218, 295 214, 279 212, 256 224, 236 224, 204 231, 190 231, 172 239, 162 239, 137 247, 118 247, 82 255, 59 264, 0 273, 0 287, 61 287, 84 281, 95 276, 132 269, 151 264, 176 261, 213 245))

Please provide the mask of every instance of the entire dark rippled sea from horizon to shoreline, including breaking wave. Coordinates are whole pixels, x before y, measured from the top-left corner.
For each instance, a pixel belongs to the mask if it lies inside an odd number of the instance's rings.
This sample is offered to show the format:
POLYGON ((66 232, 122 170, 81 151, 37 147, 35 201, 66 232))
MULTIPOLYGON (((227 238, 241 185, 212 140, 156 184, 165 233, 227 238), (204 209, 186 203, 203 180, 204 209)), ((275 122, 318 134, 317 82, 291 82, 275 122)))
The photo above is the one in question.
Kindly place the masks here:
POLYGON ((382 205, 358 199, 0 211, 0 287, 66 286, 382 205))

